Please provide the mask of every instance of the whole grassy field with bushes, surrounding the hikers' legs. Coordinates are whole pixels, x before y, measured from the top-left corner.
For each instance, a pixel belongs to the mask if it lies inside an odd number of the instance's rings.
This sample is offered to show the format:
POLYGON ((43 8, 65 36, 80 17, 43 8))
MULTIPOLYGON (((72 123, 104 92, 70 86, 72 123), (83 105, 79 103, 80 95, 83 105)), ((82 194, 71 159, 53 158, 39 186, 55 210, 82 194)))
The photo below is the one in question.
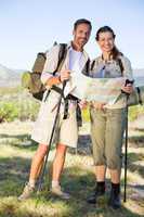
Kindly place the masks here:
MULTIPOLYGON (((132 107, 129 113, 129 153, 127 203, 119 210, 107 206, 109 174, 106 195, 97 205, 86 200, 95 183, 91 154, 89 113, 83 112, 84 124, 79 132, 78 149, 69 149, 62 177, 63 188, 71 194, 69 201, 55 197, 50 192, 51 165, 55 153, 52 148, 44 177, 43 191, 38 196, 19 203, 28 179, 31 157, 37 144, 30 140, 39 103, 21 88, 0 90, 0 217, 140 217, 144 216, 144 107, 132 107), (38 202, 38 204, 37 204, 38 202)), ((123 141, 125 142, 125 141, 123 141)), ((121 200, 123 196, 123 169, 121 200)))

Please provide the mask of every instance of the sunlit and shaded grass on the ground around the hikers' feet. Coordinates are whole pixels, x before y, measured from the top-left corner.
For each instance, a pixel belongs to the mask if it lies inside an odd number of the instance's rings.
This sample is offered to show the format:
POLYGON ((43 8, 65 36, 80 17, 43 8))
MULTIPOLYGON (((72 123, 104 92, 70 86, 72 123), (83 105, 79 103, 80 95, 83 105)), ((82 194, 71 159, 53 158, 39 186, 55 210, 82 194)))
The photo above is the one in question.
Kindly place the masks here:
MULTIPOLYGON (((43 192, 37 203, 37 194, 26 202, 19 203, 25 181, 28 179, 31 157, 37 149, 36 143, 29 142, 30 123, 11 123, 0 125, 0 217, 139 217, 144 216, 144 203, 141 196, 133 199, 134 188, 144 190, 144 139, 135 146, 135 140, 129 140, 128 155, 128 202, 122 203, 120 210, 113 210, 107 206, 109 192, 109 176, 107 174, 107 193, 96 205, 88 205, 87 196, 94 186, 93 161, 90 154, 81 152, 79 144, 78 154, 69 150, 66 157, 62 177, 62 186, 71 194, 66 202, 50 193, 51 165, 54 150, 49 157, 48 174, 43 192)), ((88 141, 90 142, 90 141, 88 141)), ((121 178, 123 192, 123 176, 121 178)))

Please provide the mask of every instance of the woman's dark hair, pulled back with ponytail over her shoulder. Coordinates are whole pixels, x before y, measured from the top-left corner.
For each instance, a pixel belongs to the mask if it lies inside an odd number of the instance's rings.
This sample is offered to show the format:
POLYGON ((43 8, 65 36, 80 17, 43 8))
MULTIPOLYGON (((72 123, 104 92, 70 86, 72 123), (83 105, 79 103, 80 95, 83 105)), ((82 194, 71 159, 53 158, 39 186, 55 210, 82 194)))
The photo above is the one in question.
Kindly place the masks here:
MULTIPOLYGON (((99 41, 99 39, 100 39, 100 34, 107 33, 107 31, 109 31, 113 35, 114 39, 116 38, 116 35, 115 35, 114 30, 109 26, 103 26, 96 33, 96 36, 95 36, 96 41, 99 41)), ((113 59, 117 60, 117 58, 119 55, 123 55, 123 54, 117 49, 116 46, 114 46, 114 48, 112 50, 112 56, 113 56, 113 59)))

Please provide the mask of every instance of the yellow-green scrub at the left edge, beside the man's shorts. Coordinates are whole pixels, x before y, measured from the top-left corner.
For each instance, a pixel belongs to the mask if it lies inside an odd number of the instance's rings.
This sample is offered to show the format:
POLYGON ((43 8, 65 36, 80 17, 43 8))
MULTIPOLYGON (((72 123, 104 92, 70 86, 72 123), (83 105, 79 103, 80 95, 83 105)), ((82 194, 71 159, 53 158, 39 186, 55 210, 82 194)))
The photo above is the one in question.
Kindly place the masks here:
POLYGON ((0 123, 35 120, 40 103, 21 87, 0 88, 0 123))

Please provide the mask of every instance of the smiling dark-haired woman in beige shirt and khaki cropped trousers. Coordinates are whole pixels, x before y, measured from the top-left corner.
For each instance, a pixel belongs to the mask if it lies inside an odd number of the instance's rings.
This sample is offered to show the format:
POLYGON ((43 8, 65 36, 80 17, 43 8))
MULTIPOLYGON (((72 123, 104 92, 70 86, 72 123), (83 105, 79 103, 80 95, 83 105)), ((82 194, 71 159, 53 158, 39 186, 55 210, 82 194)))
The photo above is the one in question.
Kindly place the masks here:
MULTIPOLYGON (((127 77, 132 80, 130 61, 115 46, 115 34, 108 26, 101 27, 96 33, 96 41, 102 55, 92 62, 92 77, 127 77)), ((121 87, 131 93, 132 85, 121 87)), ((94 102, 90 107, 91 136, 95 164, 96 188, 88 199, 96 203, 96 199, 105 193, 105 174, 108 167, 112 180, 109 205, 120 207, 120 170, 121 146, 126 126, 126 93, 121 93, 114 105, 94 102)))

